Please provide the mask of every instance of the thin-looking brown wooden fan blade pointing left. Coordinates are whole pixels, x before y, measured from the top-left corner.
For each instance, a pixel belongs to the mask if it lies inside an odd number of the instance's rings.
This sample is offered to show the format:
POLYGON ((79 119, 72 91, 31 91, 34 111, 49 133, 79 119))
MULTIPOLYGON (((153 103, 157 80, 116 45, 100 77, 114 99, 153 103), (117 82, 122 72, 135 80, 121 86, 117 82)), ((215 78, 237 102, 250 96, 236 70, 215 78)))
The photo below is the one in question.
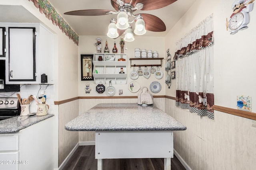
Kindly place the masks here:
POLYGON ((107 12, 114 12, 111 10, 77 10, 77 11, 70 11, 65 12, 66 15, 73 15, 73 16, 103 16, 108 15, 107 12))

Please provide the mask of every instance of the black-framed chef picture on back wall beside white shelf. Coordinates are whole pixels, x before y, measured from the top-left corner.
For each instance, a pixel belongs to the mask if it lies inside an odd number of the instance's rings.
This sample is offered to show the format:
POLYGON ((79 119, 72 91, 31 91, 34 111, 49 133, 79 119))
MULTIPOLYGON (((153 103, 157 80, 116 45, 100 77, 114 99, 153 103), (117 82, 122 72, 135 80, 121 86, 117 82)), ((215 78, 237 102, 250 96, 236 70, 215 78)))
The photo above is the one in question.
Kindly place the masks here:
POLYGON ((92 75, 93 54, 81 54, 81 80, 94 80, 92 75))

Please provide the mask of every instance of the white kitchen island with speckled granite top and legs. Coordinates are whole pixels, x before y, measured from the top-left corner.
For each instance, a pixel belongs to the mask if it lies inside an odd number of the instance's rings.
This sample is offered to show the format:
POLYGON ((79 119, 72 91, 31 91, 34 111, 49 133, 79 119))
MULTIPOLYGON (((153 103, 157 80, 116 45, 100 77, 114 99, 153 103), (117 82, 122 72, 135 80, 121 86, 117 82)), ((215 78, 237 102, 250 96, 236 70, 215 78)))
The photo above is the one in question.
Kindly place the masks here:
POLYGON ((95 131, 95 158, 164 158, 171 169, 173 131, 186 130, 155 106, 98 104, 65 125, 68 131, 95 131))

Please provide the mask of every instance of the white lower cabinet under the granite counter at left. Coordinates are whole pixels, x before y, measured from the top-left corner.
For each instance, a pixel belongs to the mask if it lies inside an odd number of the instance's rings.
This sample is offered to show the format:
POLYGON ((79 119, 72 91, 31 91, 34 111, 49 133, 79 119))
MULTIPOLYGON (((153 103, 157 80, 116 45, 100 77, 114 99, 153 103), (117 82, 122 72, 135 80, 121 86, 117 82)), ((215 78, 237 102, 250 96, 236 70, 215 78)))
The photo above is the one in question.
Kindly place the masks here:
POLYGON ((54 117, 0 134, 0 170, 53 170, 54 117))

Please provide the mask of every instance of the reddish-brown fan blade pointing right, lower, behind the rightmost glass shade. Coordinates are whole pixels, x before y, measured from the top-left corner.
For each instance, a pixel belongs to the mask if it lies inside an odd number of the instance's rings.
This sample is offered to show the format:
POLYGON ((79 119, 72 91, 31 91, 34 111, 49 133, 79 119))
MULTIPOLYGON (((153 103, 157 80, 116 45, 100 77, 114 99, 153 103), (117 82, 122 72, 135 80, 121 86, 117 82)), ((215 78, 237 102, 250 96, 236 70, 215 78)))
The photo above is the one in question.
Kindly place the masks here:
POLYGON ((145 29, 148 31, 162 32, 166 30, 164 22, 151 14, 140 14, 145 21, 145 29))

